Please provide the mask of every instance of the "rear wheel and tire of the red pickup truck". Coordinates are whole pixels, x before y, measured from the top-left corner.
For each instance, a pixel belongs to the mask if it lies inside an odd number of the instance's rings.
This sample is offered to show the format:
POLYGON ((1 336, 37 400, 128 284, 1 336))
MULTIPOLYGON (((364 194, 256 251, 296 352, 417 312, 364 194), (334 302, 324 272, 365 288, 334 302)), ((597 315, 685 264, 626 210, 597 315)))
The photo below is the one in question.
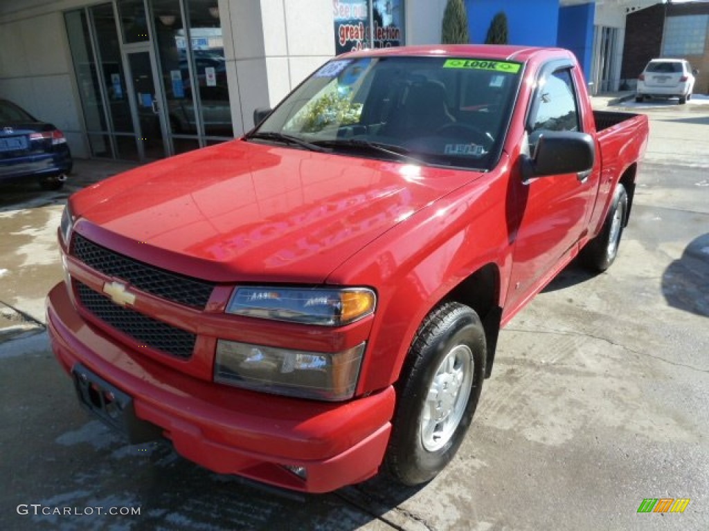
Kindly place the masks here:
POLYGON ((620 236, 627 224, 627 193, 622 183, 618 183, 601 232, 581 249, 581 262, 589 269, 602 272, 618 256, 620 236))

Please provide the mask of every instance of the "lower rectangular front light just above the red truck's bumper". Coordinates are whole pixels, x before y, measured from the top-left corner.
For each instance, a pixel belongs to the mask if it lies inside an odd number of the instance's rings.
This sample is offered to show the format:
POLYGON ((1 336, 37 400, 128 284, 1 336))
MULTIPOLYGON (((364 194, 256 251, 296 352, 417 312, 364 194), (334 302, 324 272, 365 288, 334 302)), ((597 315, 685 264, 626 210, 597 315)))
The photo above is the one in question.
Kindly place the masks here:
POLYGON ((300 398, 347 400, 357 386, 364 346, 320 353, 220 339, 214 381, 300 398))

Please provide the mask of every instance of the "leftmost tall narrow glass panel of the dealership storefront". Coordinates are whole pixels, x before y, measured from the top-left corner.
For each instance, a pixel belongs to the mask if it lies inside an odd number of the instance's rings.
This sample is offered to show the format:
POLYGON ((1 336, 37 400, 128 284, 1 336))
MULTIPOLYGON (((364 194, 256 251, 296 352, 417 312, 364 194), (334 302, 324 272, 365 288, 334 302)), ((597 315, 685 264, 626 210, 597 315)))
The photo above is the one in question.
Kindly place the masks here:
POLYGON ((65 21, 86 129, 89 131, 105 131, 108 127, 106 125, 106 116, 104 115, 104 102, 99 87, 96 58, 91 48, 91 36, 86 13, 83 9, 70 11, 66 13, 65 21))

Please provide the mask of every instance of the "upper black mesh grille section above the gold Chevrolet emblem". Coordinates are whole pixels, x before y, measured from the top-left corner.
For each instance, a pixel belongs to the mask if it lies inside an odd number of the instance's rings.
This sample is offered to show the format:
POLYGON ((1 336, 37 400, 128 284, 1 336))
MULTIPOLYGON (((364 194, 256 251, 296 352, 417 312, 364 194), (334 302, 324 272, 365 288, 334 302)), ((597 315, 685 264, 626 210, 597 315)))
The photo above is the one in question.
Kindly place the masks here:
POLYGON ((138 290, 197 309, 206 307, 214 289, 211 282, 171 273, 128 258, 94 244, 81 234, 74 234, 72 254, 90 268, 109 277, 121 278, 138 290))

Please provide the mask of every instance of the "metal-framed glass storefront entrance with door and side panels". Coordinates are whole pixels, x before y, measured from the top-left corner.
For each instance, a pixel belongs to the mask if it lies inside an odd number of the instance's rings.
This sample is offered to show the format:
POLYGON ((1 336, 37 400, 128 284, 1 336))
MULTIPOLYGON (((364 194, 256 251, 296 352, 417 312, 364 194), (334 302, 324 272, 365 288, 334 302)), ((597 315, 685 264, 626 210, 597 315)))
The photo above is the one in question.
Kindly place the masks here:
POLYGON ((233 138, 216 0, 65 13, 91 156, 145 161, 233 138))

